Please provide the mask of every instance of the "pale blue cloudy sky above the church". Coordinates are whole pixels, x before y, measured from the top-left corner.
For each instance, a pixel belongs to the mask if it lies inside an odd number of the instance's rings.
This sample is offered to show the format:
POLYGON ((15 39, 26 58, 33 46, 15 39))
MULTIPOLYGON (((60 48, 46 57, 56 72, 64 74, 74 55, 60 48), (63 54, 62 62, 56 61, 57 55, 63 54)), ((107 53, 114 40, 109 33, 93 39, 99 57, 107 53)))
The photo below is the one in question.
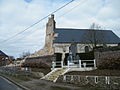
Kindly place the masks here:
MULTIPOLYGON (((48 19, 6 41, 71 0, 0 0, 0 50, 19 57, 45 44, 48 19)), ((55 13, 56 27, 89 28, 92 23, 120 37, 120 0, 74 0, 55 13)))

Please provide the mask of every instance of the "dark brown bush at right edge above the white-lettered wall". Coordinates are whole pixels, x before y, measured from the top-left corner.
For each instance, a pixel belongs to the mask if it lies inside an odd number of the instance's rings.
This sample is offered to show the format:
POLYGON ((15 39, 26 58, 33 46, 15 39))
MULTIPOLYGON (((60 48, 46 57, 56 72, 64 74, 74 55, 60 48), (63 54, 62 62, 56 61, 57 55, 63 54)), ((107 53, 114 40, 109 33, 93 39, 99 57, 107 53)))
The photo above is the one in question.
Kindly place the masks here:
POLYGON ((102 60, 99 62, 98 69, 120 70, 120 56, 116 58, 109 57, 102 60))

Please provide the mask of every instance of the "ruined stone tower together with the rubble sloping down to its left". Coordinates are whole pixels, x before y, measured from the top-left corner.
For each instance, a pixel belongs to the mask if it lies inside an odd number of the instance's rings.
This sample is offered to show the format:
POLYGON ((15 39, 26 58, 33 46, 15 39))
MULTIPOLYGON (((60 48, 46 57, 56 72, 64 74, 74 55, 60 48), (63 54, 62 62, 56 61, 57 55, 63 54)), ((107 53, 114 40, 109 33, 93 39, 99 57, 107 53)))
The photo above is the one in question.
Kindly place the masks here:
POLYGON ((44 55, 52 55, 54 54, 53 48, 53 40, 54 40, 54 29, 55 29, 55 20, 54 15, 48 19, 48 23, 46 24, 46 36, 45 36, 45 45, 39 51, 30 55, 30 57, 39 57, 44 55))

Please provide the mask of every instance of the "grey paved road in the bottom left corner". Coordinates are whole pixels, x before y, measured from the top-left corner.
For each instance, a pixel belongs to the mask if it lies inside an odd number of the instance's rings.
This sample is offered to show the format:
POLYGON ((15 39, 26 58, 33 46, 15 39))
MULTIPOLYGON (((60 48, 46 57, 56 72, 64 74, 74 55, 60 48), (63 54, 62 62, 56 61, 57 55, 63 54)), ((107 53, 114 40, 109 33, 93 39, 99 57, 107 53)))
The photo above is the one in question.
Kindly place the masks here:
POLYGON ((0 76, 0 90, 22 90, 12 82, 0 76))

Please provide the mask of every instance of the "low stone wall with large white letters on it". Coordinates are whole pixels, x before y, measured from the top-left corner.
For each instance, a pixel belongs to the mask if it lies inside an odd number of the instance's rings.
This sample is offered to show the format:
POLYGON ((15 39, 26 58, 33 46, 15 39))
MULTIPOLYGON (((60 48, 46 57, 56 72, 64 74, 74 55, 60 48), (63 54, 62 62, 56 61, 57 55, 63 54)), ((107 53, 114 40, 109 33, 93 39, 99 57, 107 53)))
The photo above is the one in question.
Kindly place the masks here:
POLYGON ((117 76, 61 75, 57 82, 76 84, 79 86, 88 85, 109 90, 120 90, 120 77, 117 76))

